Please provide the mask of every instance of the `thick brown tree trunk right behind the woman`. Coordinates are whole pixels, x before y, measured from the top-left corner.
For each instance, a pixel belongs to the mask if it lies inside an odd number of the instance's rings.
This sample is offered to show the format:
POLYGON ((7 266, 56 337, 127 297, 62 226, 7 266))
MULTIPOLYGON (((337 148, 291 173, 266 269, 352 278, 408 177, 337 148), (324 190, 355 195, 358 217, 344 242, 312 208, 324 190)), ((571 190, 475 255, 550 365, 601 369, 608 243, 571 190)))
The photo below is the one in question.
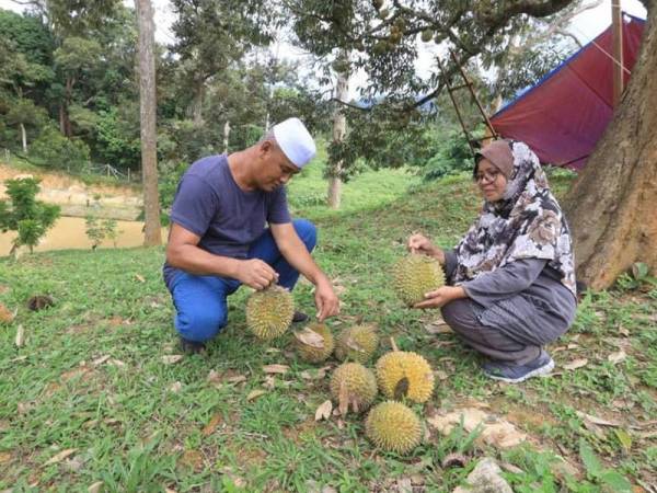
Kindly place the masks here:
POLYGON ((604 289, 634 262, 657 270, 657 5, 614 117, 564 200, 577 275, 604 289))

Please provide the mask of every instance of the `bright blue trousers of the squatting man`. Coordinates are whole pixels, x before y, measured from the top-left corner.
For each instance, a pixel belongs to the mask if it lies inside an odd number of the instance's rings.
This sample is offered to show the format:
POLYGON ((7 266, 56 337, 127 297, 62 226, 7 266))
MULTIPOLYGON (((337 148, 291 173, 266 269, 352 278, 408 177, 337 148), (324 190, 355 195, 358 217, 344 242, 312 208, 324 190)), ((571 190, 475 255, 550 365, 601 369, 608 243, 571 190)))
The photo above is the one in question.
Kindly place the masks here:
MULTIPOLYGON (((295 219, 295 230, 309 252, 316 243, 316 228, 307 219, 295 219)), ((261 259, 278 273, 278 284, 292 290, 299 272, 280 254, 269 229, 249 249, 249 259, 261 259)), ((230 277, 197 276, 177 272, 171 282, 175 306, 175 330, 183 339, 205 342, 216 336, 228 322, 226 299, 241 283, 230 277)))

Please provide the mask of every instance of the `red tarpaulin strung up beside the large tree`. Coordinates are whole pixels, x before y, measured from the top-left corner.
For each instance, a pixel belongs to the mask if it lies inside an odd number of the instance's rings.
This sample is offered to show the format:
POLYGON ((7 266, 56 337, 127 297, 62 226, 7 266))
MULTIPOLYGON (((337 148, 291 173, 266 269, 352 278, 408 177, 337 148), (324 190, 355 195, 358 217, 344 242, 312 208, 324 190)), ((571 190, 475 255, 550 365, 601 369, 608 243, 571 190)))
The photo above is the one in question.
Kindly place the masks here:
MULTIPOLYGON (((645 21, 624 15, 623 65, 632 70, 645 21)), ((497 112, 491 123, 505 138, 530 146, 541 162, 581 169, 611 121, 611 27, 533 88, 497 112)), ((625 84, 630 73, 624 72, 625 84)))

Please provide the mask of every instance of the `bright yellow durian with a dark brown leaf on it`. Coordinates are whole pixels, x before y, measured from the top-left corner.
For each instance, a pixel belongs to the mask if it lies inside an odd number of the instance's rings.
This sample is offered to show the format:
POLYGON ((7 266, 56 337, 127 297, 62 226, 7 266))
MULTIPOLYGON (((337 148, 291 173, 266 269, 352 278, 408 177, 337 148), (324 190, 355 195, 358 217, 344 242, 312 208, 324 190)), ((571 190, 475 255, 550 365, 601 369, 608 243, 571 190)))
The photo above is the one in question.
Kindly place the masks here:
POLYGON ((377 362, 379 389, 388 399, 426 402, 434 392, 434 371, 417 353, 393 351, 377 362))

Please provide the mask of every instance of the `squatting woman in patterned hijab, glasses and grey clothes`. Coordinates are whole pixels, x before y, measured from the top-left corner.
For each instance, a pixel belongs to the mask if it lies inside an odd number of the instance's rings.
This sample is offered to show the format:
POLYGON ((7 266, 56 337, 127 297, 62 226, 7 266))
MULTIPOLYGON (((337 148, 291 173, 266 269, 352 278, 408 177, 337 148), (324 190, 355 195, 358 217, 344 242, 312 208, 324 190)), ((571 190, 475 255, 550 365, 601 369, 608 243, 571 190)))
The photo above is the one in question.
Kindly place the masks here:
POLYGON ((508 382, 549 374, 542 346, 573 323, 576 310, 570 234, 537 156, 522 142, 482 149, 474 180, 485 203, 454 250, 413 234, 412 252, 438 259, 449 286, 416 308, 442 308, 445 321, 487 356, 486 376, 508 382))

